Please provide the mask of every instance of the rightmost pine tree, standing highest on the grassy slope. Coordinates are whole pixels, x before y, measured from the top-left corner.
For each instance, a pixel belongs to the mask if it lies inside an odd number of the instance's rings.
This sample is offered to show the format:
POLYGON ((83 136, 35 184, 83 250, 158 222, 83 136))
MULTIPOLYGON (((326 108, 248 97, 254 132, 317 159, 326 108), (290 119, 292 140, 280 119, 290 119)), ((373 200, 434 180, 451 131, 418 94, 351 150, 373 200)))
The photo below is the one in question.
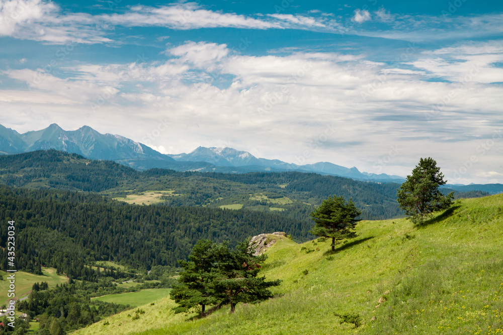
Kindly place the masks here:
POLYGON ((421 158, 398 189, 396 200, 414 224, 423 224, 432 212, 452 205, 454 192, 443 195, 439 190, 446 183, 437 162, 431 157, 421 158))

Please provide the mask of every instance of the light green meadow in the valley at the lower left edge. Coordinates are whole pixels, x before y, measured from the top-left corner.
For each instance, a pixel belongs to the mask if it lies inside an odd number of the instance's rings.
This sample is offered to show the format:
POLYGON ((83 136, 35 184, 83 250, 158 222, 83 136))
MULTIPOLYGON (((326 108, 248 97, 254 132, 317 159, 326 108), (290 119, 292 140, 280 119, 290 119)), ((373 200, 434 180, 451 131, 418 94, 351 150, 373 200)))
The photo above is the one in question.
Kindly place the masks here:
MULTIPOLYGON (((68 278, 66 276, 61 276, 56 274, 56 269, 54 268, 42 268, 43 275, 34 275, 32 273, 18 271, 16 272, 16 298, 22 298, 27 296, 32 289, 33 284, 41 283, 46 281, 49 287, 55 287, 56 284, 66 283, 68 278)), ((7 297, 9 290, 9 281, 7 280, 7 272, 0 271, 0 274, 4 276, 4 280, 0 281, 0 297, 5 298, 2 303, 7 302, 10 298, 7 297)))

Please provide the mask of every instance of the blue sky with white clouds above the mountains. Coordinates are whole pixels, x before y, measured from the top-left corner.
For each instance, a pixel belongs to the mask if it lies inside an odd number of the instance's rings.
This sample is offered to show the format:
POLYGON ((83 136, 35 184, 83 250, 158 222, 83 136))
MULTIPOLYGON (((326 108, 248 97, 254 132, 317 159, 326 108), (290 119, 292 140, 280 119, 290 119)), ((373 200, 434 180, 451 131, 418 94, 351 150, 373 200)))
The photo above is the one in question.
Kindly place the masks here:
POLYGON ((503 2, 0 0, 0 124, 503 183, 503 2))

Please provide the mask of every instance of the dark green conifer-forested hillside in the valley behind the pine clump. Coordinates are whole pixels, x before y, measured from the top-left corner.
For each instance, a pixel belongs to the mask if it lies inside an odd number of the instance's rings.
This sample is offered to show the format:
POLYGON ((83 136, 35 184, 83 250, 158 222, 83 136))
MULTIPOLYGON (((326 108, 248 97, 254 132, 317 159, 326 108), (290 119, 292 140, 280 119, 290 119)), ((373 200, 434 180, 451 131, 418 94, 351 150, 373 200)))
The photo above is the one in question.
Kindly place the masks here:
MULTIPOLYGON (((305 241, 309 226, 274 213, 207 207, 135 206, 70 191, 0 188, 0 217, 16 221, 19 269, 42 264, 74 278, 86 265, 112 260, 137 269, 176 266, 202 238, 231 245, 264 231, 285 231, 305 241)), ((0 231, 5 248, 7 230, 0 231)), ((0 268, 7 264, 0 251, 0 268)), ((92 279, 92 278, 87 278, 92 279)))

